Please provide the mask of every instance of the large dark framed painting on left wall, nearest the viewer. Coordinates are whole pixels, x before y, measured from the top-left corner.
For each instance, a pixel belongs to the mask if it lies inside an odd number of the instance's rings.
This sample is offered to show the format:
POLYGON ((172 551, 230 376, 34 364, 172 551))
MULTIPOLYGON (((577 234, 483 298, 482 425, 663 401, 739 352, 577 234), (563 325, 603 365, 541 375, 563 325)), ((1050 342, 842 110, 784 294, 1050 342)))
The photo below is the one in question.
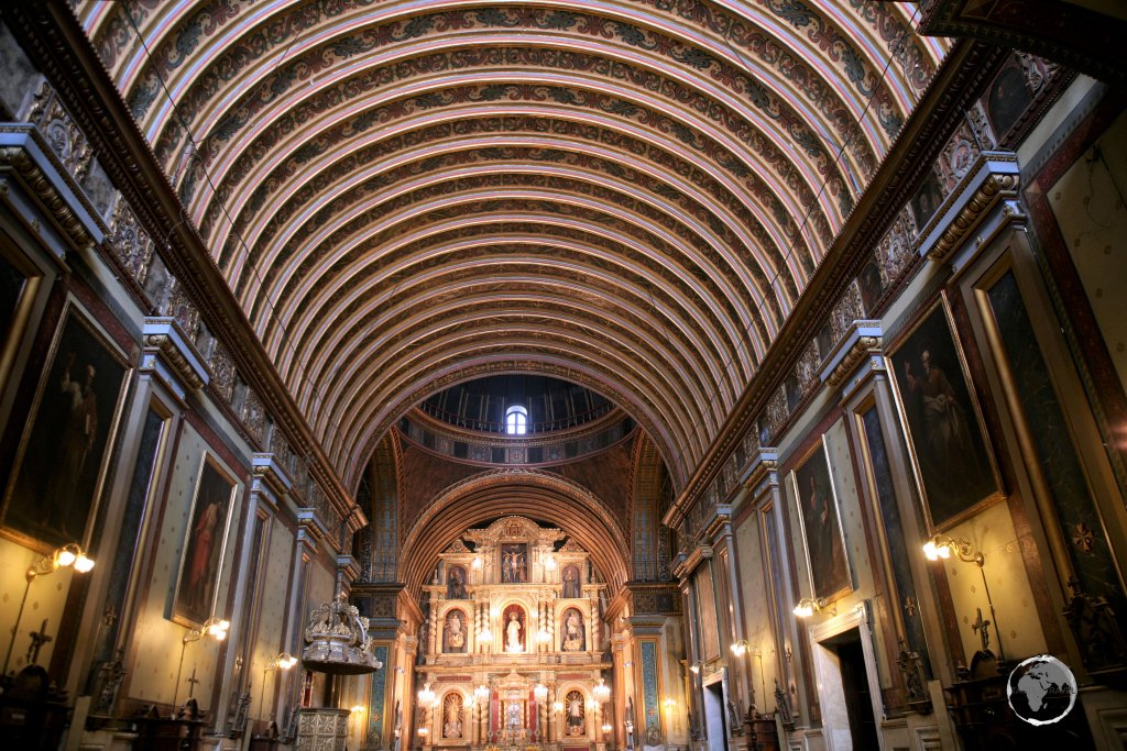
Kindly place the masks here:
POLYGON ((130 373, 124 352, 69 301, 3 499, 5 534, 88 547, 130 373))

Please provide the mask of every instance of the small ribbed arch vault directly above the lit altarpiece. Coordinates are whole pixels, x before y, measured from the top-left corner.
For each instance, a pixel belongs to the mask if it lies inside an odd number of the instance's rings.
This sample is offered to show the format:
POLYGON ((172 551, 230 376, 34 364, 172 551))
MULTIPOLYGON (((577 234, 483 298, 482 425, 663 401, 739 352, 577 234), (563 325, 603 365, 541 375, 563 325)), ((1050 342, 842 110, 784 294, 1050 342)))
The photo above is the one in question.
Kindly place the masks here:
POLYGON ((627 530, 594 494, 545 472, 496 470, 447 488, 424 509, 403 540, 399 581, 417 596, 438 553, 468 528, 505 516, 541 519, 562 529, 591 553, 612 590, 630 576, 627 530))

